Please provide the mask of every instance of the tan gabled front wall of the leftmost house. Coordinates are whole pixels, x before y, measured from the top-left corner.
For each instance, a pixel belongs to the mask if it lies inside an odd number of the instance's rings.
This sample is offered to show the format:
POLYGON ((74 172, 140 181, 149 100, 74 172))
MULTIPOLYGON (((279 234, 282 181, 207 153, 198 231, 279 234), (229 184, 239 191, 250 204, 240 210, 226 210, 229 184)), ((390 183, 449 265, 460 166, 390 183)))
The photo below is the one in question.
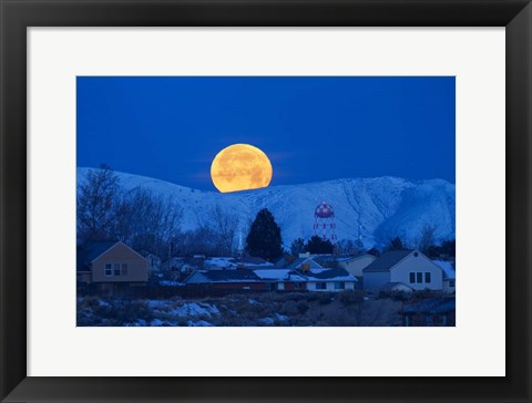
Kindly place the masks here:
POLYGON ((145 282, 150 262, 123 244, 117 244, 92 262, 93 282, 145 282), (127 265, 127 275, 114 276, 114 265, 127 265), (113 276, 105 276, 105 265, 112 265, 113 276))

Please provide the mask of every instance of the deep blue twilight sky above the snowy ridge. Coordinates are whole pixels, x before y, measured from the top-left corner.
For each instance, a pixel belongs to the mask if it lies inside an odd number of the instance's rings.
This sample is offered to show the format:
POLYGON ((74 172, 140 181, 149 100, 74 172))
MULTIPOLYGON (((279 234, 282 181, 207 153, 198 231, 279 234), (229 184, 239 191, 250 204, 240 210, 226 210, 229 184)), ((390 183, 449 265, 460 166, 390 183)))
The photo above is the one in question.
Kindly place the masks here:
POLYGON ((211 163, 263 149, 270 185, 454 183, 454 78, 78 78, 78 166, 215 190, 211 163))

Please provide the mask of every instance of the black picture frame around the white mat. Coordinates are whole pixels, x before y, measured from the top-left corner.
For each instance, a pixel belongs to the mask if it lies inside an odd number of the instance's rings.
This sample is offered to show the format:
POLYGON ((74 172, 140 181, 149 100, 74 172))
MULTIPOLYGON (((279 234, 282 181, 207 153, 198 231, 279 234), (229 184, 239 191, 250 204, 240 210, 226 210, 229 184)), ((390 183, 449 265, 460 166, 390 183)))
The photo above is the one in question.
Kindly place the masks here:
POLYGON ((0 0, 0 12, 2 402, 531 401, 532 6, 529 0, 0 0), (507 376, 27 376, 27 28, 63 25, 505 27, 507 376))

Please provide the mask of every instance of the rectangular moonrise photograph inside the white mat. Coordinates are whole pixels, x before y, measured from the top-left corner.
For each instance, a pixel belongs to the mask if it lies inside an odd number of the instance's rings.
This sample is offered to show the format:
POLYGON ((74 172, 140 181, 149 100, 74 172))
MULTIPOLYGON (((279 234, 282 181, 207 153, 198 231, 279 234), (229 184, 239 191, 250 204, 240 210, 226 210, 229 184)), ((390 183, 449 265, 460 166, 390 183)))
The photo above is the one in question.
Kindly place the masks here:
POLYGON ((75 90, 76 327, 456 326, 454 76, 75 90))

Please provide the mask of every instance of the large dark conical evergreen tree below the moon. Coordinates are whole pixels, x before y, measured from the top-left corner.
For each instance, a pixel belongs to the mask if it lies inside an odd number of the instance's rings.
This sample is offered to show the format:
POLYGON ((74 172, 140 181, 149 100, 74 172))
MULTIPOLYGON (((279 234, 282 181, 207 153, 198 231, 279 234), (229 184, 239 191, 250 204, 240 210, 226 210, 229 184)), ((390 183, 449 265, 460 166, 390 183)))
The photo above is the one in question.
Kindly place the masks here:
POLYGON ((273 261, 283 256, 280 228, 267 208, 258 211, 246 237, 249 255, 273 261))

